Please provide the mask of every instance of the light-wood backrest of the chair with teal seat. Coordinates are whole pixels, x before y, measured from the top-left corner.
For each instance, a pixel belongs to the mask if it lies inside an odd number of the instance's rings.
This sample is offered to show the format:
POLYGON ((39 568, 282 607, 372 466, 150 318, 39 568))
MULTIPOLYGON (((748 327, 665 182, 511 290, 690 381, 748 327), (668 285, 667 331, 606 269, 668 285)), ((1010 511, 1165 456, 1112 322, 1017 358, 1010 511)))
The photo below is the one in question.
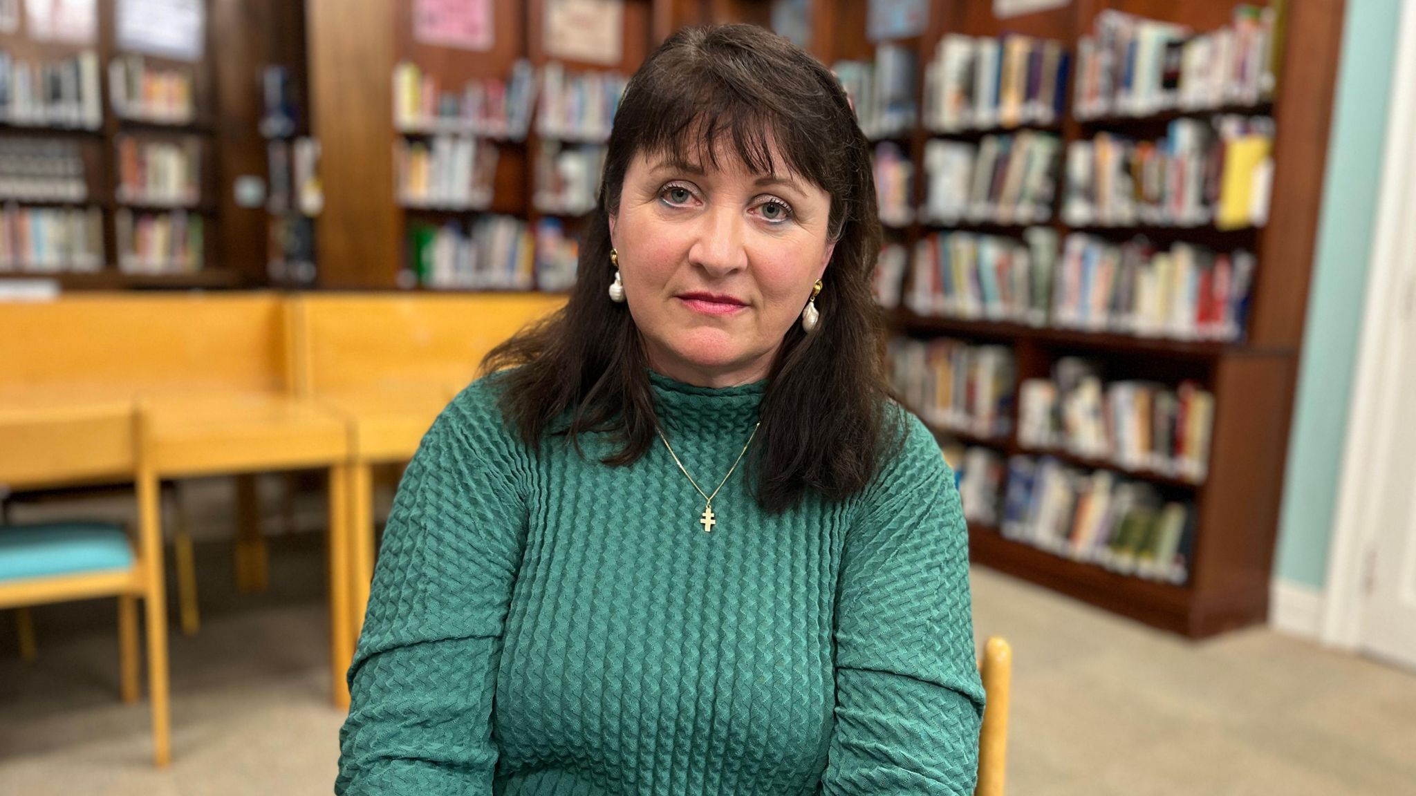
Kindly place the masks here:
POLYGON ((132 479, 137 450, 137 419, 127 401, 0 409, 0 484, 7 487, 132 479))

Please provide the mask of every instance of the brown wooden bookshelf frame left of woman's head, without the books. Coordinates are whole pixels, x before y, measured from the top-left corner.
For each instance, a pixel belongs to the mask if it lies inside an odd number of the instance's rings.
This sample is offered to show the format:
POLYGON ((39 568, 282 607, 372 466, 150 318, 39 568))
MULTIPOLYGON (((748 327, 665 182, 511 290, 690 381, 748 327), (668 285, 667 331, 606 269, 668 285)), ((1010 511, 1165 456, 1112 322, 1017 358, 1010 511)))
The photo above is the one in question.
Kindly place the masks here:
MULTIPOLYGON (((412 288, 399 276, 409 258, 408 229, 416 221, 470 222, 484 214, 501 214, 525 221, 532 234, 545 217, 561 218, 568 234, 583 227, 585 214, 545 212, 532 201, 541 150, 534 122, 524 140, 479 139, 497 147, 490 204, 423 207, 396 198, 391 157, 395 144, 428 137, 433 130, 396 129, 391 115, 395 64, 415 64, 447 91, 470 79, 508 79, 513 65, 523 58, 538 71, 552 61, 544 47, 542 1, 494 0, 494 35, 487 51, 418 41, 412 7, 409 0, 307 3, 312 127, 323 149, 320 170, 326 188, 324 221, 317 231, 323 288, 412 288), (360 110, 351 113, 351 108, 360 110)), ((674 23, 688 7, 697 3, 624 0, 619 62, 562 64, 568 74, 613 71, 629 76, 668 30, 677 30, 674 23)))

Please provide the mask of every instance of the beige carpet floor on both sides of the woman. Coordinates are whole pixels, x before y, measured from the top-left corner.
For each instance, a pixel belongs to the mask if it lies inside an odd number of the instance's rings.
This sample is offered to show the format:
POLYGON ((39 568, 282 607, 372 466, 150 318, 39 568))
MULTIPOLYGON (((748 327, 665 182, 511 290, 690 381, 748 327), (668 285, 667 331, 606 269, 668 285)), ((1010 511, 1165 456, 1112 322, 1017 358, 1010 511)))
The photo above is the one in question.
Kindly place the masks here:
MULTIPOLYGON (((329 793, 319 535, 275 540, 272 589, 235 593, 200 545, 204 625, 173 635, 176 762, 118 700, 116 608, 35 610, 40 661, 0 612, 0 795, 329 793)), ((980 637, 1014 646, 1008 792, 1049 796, 1416 793, 1416 676, 1266 629, 1189 643, 987 569, 980 637)))

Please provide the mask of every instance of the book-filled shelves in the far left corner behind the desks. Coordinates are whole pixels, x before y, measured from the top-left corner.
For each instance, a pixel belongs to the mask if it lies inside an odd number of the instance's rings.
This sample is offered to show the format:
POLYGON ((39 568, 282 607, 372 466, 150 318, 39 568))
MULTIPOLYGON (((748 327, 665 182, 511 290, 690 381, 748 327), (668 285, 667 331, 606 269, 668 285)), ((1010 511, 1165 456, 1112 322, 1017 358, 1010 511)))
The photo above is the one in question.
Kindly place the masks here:
POLYGON ((153 13, 88 0, 11 3, 0 14, 0 279, 234 282, 212 263, 205 27, 185 37, 194 50, 164 51, 133 33, 153 13))

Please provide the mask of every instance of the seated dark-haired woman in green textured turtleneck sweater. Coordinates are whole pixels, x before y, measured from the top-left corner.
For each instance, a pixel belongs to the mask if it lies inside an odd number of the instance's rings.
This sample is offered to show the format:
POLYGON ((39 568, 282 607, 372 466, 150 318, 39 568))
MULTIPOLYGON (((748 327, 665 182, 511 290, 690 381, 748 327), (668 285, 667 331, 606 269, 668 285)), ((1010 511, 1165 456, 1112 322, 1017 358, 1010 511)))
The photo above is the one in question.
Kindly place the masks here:
POLYGON ((886 399, 875 212, 810 55, 650 55, 569 305, 399 487, 337 792, 973 792, 964 523, 886 399))

